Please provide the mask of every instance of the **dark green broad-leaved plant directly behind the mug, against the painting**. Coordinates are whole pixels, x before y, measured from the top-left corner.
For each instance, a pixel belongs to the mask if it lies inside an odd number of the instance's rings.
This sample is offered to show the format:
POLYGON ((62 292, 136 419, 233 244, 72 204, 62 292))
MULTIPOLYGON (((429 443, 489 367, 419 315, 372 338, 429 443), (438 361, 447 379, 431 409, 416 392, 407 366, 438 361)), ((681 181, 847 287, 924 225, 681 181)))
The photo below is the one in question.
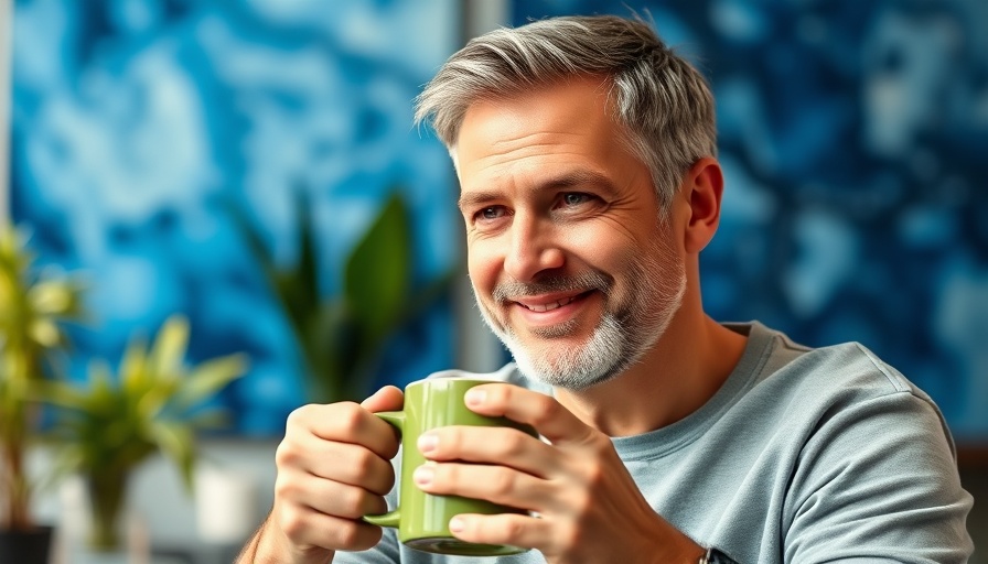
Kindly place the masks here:
POLYGON ((422 288, 412 288, 409 212, 398 191, 346 257, 342 291, 332 296, 320 292, 315 230, 304 189, 296 191, 298 258, 291 265, 278 264, 241 208, 230 210, 291 325, 313 401, 363 398, 387 339, 436 303, 457 272, 451 268, 422 288))

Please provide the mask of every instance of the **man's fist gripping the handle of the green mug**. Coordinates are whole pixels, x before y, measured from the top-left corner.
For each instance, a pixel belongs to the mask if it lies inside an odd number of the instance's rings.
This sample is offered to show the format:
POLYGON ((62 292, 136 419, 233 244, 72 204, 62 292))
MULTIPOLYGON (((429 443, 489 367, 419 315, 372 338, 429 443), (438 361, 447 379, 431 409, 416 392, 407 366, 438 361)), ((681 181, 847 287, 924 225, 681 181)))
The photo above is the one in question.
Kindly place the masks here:
POLYGON ((374 413, 400 410, 404 401, 389 386, 361 404, 292 412, 275 457, 273 509, 238 563, 324 564, 334 551, 377 544, 380 528, 361 518, 387 511, 398 435, 374 413))

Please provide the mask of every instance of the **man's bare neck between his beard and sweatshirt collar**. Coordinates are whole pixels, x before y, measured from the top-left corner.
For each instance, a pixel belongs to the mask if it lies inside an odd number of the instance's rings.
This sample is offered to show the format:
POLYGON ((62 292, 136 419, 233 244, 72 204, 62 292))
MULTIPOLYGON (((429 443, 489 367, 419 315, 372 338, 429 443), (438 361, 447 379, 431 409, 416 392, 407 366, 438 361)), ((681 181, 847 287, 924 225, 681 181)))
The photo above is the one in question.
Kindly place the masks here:
POLYGON ((589 388, 556 389, 559 402, 609 436, 654 431, 700 409, 730 376, 747 337, 708 317, 697 292, 658 343, 629 370, 589 388))

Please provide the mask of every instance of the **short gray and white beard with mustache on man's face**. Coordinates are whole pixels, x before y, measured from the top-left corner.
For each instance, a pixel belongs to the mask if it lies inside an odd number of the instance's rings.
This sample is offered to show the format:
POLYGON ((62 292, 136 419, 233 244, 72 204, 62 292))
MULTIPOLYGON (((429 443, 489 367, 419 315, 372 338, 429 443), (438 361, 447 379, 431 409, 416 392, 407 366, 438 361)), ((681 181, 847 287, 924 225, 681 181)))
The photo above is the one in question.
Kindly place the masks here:
MULTIPOLYGON (((555 338, 574 334, 579 322, 529 329, 537 345, 525 345, 515 330, 476 296, 481 315, 491 330, 514 356, 526 377, 549 386, 579 391, 621 375, 652 349, 669 327, 686 294, 686 269, 663 232, 644 253, 625 260, 630 263, 625 295, 614 293, 614 279, 600 271, 577 276, 557 276, 537 283, 506 282, 493 292, 495 306, 508 296, 538 295, 549 292, 599 291, 604 296, 604 313, 588 340, 580 345, 552 344, 555 338), (668 272, 674 269, 674 272, 668 272), (647 291, 646 291, 647 289, 647 291), (618 301, 614 303, 614 301, 618 301)), ((476 288, 474 286, 476 294, 476 288)))

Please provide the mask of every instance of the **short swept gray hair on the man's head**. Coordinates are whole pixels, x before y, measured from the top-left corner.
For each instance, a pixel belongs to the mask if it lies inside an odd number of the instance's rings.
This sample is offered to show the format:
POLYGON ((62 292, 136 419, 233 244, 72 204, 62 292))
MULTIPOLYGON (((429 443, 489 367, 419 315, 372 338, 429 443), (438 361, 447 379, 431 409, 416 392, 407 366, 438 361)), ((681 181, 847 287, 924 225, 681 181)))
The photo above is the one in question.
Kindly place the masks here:
POLYGON ((686 171, 717 155, 713 96, 702 75, 641 20, 550 18, 475 37, 426 85, 415 122, 430 124, 452 152, 474 101, 593 75, 610 80, 613 118, 667 209, 686 171))

